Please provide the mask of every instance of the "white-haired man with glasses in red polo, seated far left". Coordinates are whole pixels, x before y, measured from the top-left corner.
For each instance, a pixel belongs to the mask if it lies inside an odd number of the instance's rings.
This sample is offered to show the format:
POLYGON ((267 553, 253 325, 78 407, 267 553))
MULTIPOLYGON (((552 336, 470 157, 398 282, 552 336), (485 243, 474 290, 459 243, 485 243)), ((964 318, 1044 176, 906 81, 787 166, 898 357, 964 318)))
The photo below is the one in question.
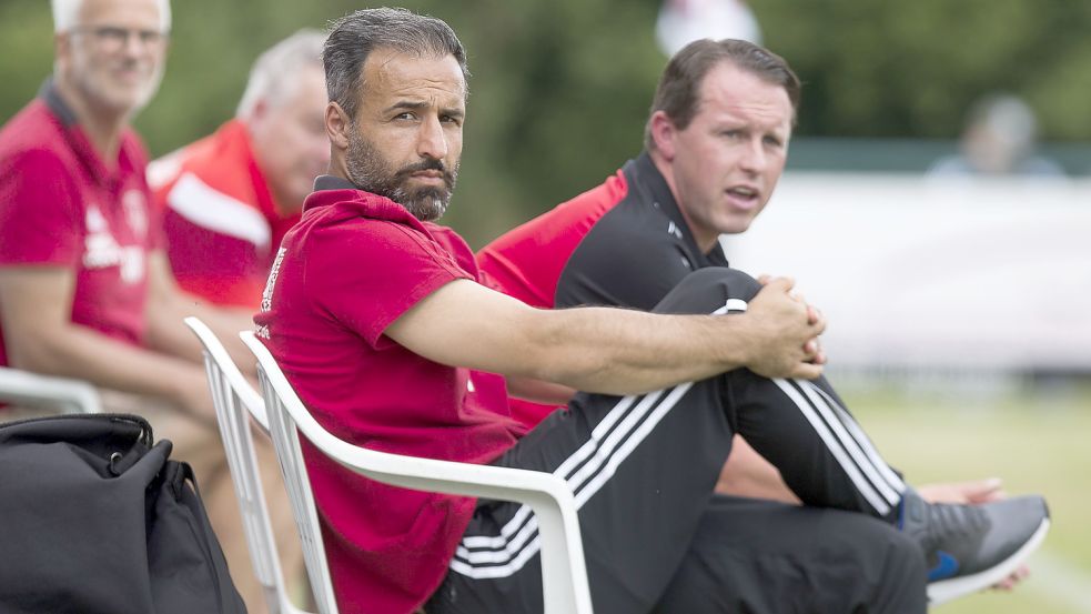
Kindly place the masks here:
POLYGON ((162 79, 170 4, 53 0, 52 11, 53 74, 0 129, 0 365, 91 382, 108 411, 170 439, 257 612, 201 346, 182 324, 200 316, 253 364, 236 334, 248 319, 178 289, 130 123, 162 79))

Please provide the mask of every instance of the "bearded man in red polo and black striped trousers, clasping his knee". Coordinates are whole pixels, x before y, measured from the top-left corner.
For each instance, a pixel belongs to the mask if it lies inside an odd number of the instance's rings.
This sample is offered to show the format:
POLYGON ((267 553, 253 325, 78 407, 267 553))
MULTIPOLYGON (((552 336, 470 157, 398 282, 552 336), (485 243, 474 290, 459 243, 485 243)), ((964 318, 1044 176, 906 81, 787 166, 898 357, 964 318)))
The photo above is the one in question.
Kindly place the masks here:
MULTIPOLYGON (((1040 499, 941 509, 870 451, 846 457, 830 433, 859 426, 811 381, 824 323, 787 280, 696 271, 655 313, 541 310, 481 285, 466 243, 433 223, 466 118, 454 32, 404 10, 357 11, 334 24, 323 59, 331 174, 277 252, 257 334, 344 440, 566 480, 596 612, 923 612, 926 554, 953 552, 978 573, 1048 527, 1040 499), (499 374, 596 394, 525 433, 499 374), (713 487, 735 432, 808 507, 726 522, 713 487), (806 552, 822 543, 825 564, 750 558, 761 573, 723 573, 757 550, 743 542, 775 531, 806 552), (670 590, 679 583, 699 590, 670 590)), ((761 95, 784 129, 777 91, 761 95)), ((390 487, 304 455, 342 612, 541 612, 528 509, 390 487)))

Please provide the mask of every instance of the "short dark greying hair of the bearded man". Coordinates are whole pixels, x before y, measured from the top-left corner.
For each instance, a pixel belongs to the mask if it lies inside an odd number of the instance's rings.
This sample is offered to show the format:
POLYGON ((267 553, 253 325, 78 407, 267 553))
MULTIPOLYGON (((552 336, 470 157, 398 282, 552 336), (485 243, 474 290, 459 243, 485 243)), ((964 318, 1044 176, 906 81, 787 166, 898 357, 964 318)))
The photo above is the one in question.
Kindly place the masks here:
POLYGON ((322 61, 330 100, 355 119, 367 56, 376 49, 393 49, 420 58, 454 56, 463 78, 469 77, 466 50, 443 20, 405 9, 363 9, 335 21, 330 29, 322 61))

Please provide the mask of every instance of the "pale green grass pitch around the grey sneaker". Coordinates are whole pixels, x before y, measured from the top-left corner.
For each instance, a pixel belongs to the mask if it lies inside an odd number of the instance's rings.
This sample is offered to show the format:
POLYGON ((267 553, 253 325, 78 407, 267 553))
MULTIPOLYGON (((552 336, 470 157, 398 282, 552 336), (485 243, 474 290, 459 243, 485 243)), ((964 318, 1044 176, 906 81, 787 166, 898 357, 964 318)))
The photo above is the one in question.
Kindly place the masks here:
POLYGON ((1011 594, 984 593, 943 614, 1091 613, 1091 385, 1011 394, 846 391, 888 462, 915 484, 1003 477, 1009 494, 1041 493, 1052 529, 1011 594))

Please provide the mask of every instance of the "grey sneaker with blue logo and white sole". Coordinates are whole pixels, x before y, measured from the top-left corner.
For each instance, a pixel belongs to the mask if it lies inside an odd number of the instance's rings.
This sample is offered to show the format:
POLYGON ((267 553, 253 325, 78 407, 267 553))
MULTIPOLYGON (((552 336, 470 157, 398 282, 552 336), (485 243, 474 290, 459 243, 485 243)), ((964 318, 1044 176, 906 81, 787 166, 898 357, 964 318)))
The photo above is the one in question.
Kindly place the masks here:
POLYGON ((936 605, 1008 577, 1045 538, 1049 509, 1040 496, 980 505, 928 503, 910 489, 898 525, 925 551, 928 601, 936 605))

